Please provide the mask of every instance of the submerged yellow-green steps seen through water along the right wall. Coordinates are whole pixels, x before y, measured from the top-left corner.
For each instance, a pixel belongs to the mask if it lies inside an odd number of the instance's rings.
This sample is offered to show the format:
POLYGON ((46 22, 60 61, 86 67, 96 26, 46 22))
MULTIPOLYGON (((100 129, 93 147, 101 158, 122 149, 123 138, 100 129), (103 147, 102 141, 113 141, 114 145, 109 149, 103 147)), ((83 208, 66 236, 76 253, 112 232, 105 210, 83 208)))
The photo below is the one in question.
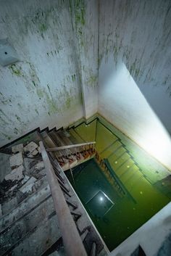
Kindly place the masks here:
MULTIPOLYGON (((86 131, 91 129, 91 125, 93 130, 93 122, 88 125, 82 124, 76 128, 70 128, 68 132, 70 136, 80 141, 80 143, 86 142, 86 135, 84 136, 83 133, 86 134, 86 131)), ((141 170, 138 163, 135 162, 122 140, 112 133, 112 131, 109 131, 107 127, 102 125, 100 121, 96 123, 95 140, 96 152, 98 152, 100 159, 100 161, 98 159, 97 161, 100 163, 101 160, 107 159, 118 180, 122 182, 129 193, 134 194, 134 187, 138 181, 146 181, 149 183, 148 178, 143 174, 143 170, 141 170)), ((114 178, 111 176, 111 173, 103 166, 101 166, 101 170, 103 170, 109 183, 114 186, 114 178)))

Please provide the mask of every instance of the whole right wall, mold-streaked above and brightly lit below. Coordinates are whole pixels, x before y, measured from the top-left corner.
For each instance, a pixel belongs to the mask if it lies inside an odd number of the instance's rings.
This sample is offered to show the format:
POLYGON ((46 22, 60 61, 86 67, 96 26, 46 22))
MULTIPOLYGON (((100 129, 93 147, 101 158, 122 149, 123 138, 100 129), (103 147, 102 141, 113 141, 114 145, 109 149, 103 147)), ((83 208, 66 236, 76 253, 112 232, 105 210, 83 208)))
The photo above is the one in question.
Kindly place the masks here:
POLYGON ((170 7, 100 1, 99 113, 171 169, 170 7))

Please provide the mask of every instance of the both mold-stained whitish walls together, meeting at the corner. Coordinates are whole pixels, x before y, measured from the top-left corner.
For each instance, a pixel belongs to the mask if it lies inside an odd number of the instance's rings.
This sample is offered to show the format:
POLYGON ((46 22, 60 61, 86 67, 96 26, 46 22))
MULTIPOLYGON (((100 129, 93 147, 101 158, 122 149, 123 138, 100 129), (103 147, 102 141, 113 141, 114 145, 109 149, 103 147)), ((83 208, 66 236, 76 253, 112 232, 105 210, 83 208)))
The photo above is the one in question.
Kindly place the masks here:
POLYGON ((1 1, 0 38, 20 62, 0 67, 0 146, 98 111, 171 168, 162 126, 171 132, 170 7, 169 0, 1 1), (106 90, 120 67, 128 78, 106 90))

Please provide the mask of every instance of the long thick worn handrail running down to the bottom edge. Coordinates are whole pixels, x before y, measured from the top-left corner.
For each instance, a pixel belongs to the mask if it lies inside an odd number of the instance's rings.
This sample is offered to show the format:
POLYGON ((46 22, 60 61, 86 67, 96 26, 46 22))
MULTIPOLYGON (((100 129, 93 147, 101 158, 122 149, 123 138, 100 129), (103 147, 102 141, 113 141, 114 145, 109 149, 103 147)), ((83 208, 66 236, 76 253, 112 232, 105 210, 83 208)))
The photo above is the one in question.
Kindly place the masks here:
POLYGON ((59 186, 57 177, 54 174, 54 170, 51 166, 46 149, 43 146, 43 142, 40 141, 39 145, 46 169, 46 177, 48 179, 51 195, 54 201, 54 207, 57 212, 59 228, 62 234, 66 254, 68 256, 87 256, 86 249, 84 248, 83 242, 78 234, 78 229, 76 228, 75 222, 70 214, 70 210, 64 199, 64 194, 59 186))

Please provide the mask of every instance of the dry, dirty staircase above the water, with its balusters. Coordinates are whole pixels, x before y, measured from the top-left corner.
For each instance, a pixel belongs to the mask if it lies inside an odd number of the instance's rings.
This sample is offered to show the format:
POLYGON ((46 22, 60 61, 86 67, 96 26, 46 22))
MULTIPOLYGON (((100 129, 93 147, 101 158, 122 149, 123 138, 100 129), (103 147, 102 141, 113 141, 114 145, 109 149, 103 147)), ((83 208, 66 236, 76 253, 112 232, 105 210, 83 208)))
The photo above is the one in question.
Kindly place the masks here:
MULTIPOLYGON (((15 161, 19 161, 17 157, 21 156, 22 160, 20 163, 11 163, 12 158, 9 157, 12 170, 0 184, 0 255, 65 255, 38 141, 43 141, 46 148, 80 142, 67 131, 46 129, 34 131, 28 139, 22 138, 1 149, 1 152, 15 157, 15 161), (14 173, 19 171, 20 175, 17 174, 16 178, 14 173)), ((59 173, 57 168, 57 161, 63 170, 67 170, 90 159, 95 153, 93 147, 81 146, 49 152, 49 159, 87 254, 102 256, 107 255, 104 244, 64 173, 59 173)))

